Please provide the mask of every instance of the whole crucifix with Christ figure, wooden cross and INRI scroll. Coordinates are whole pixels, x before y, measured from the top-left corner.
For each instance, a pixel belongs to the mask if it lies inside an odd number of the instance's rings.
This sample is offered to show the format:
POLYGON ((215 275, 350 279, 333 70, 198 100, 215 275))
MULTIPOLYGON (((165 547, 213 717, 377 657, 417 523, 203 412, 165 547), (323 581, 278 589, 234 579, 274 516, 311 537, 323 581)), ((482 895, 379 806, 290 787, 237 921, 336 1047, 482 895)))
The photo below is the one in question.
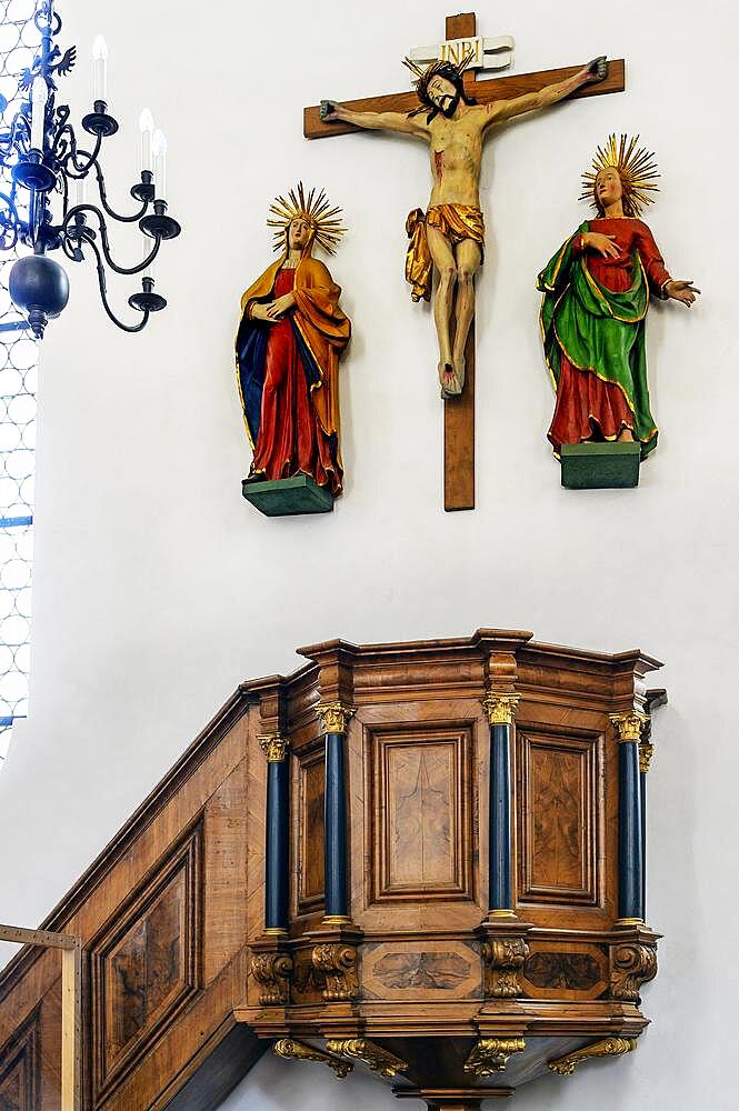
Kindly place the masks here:
POLYGON ((413 300, 431 299, 439 340, 445 402, 445 509, 475 508, 475 274, 482 262, 485 224, 479 200, 482 144, 490 129, 568 97, 622 92, 623 61, 478 81, 480 68, 508 64, 512 40, 477 38, 475 13, 447 18, 437 49, 413 51, 415 91, 347 103, 323 101, 304 111, 307 139, 371 129, 423 139, 433 189, 426 213, 408 218, 406 278, 413 300), (425 62, 430 64, 423 66, 425 62))

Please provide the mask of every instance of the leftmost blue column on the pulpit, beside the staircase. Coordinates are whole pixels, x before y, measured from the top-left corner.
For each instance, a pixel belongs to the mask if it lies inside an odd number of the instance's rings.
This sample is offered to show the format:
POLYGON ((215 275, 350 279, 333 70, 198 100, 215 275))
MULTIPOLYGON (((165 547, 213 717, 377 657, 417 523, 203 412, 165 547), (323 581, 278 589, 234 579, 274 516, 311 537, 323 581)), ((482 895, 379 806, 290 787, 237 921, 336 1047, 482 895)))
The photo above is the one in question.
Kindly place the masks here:
POLYGON ((261 737, 267 757, 267 814, 264 852, 264 933, 288 932, 289 851, 289 767, 290 742, 279 734, 261 737))

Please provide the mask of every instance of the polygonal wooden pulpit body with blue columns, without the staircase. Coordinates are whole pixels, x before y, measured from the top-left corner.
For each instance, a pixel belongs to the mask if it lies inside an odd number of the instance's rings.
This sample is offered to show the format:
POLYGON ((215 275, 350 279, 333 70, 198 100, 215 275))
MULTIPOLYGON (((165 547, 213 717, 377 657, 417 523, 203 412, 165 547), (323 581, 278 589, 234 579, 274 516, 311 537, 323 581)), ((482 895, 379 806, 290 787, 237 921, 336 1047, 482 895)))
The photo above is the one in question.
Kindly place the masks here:
POLYGON ((339 1080, 369 1069, 429 1109, 633 1050, 657 972, 645 800, 660 664, 491 629, 301 654, 296 674, 242 688, 237 1018, 282 1058, 339 1080))

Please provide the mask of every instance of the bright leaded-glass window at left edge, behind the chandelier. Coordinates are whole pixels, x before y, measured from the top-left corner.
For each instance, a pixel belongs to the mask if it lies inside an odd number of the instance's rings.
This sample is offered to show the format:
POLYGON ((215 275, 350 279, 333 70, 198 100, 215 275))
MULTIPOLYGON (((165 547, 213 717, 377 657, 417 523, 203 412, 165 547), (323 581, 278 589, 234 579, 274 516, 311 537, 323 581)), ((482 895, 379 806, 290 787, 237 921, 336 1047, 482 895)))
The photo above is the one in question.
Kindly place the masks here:
MULTIPOLYGON (((36 0, 0 0, 0 96, 8 101, 0 116, 0 138, 20 104, 19 74, 31 66, 41 41, 36 8, 36 0)), ((0 171, 0 193, 10 189, 0 171)), ((22 321, 8 293, 14 261, 10 252, 0 262, 0 768, 12 723, 28 712, 39 357, 30 332, 18 328, 22 321)))

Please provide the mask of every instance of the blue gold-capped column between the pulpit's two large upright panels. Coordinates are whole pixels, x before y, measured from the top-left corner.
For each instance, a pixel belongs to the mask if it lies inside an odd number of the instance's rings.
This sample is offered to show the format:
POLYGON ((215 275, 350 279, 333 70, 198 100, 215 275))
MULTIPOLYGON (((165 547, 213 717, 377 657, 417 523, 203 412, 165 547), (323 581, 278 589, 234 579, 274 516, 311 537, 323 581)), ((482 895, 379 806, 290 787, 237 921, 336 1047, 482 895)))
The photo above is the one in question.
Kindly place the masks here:
POLYGON ((520 694, 491 691, 482 701, 490 722, 489 918, 516 918, 511 831, 511 738, 520 694))

